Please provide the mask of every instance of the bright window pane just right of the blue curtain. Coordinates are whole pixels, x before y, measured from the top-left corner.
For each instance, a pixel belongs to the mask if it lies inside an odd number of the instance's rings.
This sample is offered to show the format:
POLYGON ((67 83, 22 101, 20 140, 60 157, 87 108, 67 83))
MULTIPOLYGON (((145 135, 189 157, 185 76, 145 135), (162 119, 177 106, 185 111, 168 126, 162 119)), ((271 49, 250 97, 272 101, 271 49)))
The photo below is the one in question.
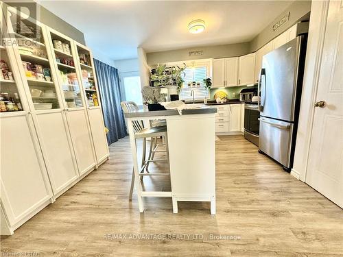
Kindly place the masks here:
POLYGON ((139 76, 123 77, 125 100, 134 101, 137 106, 142 106, 141 78, 139 76))

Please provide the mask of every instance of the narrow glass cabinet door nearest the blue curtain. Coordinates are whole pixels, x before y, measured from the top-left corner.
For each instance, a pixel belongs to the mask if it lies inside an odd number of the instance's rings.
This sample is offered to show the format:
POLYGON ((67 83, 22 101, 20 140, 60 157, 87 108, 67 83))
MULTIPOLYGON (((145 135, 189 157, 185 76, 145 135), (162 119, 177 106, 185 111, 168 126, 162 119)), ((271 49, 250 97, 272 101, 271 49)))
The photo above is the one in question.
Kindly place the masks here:
POLYGON ((82 85, 86 95, 87 106, 99 106, 91 53, 87 49, 80 47, 80 45, 76 45, 76 49, 78 51, 78 62, 80 64, 82 85))

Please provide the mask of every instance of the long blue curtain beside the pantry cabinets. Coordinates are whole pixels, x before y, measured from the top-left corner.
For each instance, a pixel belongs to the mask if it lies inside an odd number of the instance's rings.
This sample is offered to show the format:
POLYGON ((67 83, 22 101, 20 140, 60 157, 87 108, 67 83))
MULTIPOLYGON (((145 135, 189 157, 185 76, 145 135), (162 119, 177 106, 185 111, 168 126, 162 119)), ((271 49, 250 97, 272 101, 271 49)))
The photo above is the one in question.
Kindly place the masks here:
POLYGON ((110 130, 107 134, 107 142, 110 145, 126 136, 126 125, 120 106, 119 75, 115 67, 104 62, 94 59, 94 64, 105 125, 110 130))

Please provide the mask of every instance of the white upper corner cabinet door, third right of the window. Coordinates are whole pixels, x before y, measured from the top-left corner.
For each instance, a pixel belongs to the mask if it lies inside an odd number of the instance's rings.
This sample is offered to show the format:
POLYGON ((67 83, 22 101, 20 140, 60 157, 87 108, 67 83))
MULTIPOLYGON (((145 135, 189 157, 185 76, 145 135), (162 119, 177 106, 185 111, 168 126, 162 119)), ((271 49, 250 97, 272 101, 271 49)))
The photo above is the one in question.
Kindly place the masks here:
POLYGON ((255 83, 255 53, 239 57, 239 86, 255 83))

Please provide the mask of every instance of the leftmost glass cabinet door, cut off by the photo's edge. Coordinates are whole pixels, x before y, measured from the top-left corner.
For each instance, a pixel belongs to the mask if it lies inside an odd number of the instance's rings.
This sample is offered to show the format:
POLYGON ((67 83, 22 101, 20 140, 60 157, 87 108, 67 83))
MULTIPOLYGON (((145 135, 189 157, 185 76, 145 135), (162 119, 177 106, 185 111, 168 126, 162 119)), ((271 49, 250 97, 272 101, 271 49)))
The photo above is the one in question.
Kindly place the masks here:
POLYGON ((14 79, 14 60, 10 58, 8 47, 2 45, 3 27, 0 27, 0 112, 20 112, 23 110, 17 82, 14 79))

